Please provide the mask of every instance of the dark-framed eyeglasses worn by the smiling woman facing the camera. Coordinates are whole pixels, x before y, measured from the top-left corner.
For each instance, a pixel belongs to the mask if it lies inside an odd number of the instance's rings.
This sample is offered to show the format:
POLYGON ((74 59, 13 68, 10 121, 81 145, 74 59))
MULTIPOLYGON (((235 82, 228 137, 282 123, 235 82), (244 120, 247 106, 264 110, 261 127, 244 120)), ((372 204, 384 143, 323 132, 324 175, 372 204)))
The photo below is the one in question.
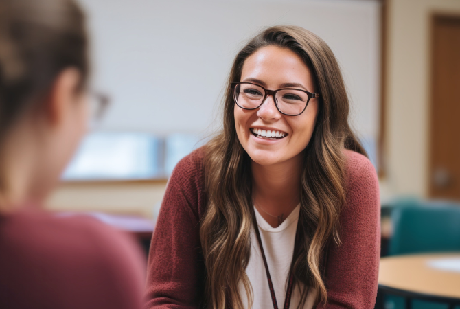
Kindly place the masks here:
POLYGON ((283 88, 268 90, 251 82, 232 82, 231 89, 236 105, 243 109, 259 108, 268 95, 273 97, 279 113, 298 116, 307 108, 311 98, 319 98, 319 93, 311 93, 302 89, 283 88))

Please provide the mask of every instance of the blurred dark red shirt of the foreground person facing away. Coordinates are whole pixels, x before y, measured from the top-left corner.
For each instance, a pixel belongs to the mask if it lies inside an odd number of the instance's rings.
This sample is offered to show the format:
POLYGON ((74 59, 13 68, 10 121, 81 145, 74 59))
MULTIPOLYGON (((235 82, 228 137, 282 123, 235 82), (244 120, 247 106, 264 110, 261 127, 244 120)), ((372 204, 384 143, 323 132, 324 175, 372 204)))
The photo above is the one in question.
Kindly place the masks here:
POLYGON ((0 308, 141 308, 144 277, 137 244, 93 218, 0 215, 0 308))

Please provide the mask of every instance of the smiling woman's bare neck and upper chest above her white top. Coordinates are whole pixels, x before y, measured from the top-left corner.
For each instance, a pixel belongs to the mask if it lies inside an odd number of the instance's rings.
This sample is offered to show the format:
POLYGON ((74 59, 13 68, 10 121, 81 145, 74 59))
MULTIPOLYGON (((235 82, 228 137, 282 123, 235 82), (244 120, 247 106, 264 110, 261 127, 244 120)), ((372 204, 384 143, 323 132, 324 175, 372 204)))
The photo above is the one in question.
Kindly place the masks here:
POLYGON ((302 159, 301 152, 275 165, 260 165, 254 161, 251 164, 255 206, 272 226, 279 225, 300 201, 302 159), (282 216, 283 219, 273 216, 282 216))

